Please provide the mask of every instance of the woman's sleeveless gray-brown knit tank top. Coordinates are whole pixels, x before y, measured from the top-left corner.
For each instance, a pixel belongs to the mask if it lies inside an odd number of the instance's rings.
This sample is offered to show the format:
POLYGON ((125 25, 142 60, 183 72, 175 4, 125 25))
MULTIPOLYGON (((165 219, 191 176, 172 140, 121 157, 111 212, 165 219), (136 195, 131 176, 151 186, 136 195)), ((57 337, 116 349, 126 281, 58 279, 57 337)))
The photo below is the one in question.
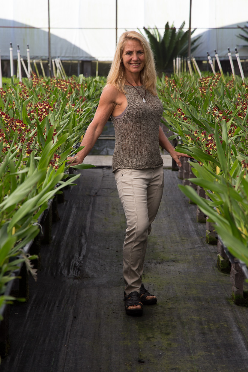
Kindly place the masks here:
MULTIPOLYGON (((142 97, 143 86, 136 87, 142 97)), ((135 88, 125 85, 128 106, 125 115, 117 119, 111 115, 115 128, 113 172, 119 168, 156 168, 163 164, 158 144, 158 131, 163 105, 158 96, 146 91, 144 103, 135 88)))

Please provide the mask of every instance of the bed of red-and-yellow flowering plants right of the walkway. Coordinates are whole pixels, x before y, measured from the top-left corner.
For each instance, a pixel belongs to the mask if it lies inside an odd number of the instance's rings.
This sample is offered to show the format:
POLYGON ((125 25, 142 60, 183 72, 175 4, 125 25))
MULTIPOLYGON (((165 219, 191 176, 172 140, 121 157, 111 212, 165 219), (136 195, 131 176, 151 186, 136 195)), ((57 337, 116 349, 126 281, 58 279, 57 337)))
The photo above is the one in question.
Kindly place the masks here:
POLYGON ((158 80, 164 124, 191 155, 195 178, 209 199, 179 186, 215 223, 234 257, 248 266, 248 86, 236 77, 184 75, 158 80))

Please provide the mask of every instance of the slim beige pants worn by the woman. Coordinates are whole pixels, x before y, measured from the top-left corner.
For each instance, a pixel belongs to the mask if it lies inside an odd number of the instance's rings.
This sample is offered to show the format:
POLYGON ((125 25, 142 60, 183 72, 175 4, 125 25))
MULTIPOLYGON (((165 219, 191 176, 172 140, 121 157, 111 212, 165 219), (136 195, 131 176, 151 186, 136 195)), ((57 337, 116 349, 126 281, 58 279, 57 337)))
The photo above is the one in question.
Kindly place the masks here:
POLYGON ((115 179, 126 215, 127 229, 123 245, 125 291, 139 293, 147 237, 160 206, 163 187, 163 166, 146 169, 118 169, 115 179))

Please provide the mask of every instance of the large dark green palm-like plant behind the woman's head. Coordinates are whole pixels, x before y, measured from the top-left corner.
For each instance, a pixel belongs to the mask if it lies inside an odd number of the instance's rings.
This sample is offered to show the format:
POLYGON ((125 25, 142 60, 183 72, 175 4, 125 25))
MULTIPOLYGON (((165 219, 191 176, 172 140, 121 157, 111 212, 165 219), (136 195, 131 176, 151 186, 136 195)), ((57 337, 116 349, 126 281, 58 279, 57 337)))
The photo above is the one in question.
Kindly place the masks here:
MULTIPOLYGON (((176 28, 173 25, 170 27, 169 22, 167 22, 163 36, 160 35, 157 27, 152 30, 144 27, 144 31, 154 52, 159 72, 165 71, 166 68, 170 68, 173 65, 173 58, 179 55, 181 57, 187 56, 189 30, 184 32, 184 25, 185 22, 183 22, 178 31, 176 31, 176 28)), ((191 31, 191 35, 194 31, 195 29, 191 31)), ((200 45, 195 45, 199 38, 200 36, 191 41, 191 52, 200 45)))

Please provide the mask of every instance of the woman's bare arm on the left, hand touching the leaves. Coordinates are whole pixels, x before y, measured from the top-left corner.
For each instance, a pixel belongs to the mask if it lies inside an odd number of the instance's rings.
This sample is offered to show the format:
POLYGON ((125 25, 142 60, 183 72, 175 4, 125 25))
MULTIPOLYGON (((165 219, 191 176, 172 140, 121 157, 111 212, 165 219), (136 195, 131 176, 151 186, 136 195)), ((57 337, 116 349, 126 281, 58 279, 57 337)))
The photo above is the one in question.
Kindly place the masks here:
POLYGON ((84 158, 88 155, 97 141, 97 138, 102 134, 104 125, 111 115, 116 103, 117 90, 114 87, 108 86, 103 89, 97 107, 94 119, 87 128, 83 141, 80 146, 84 146, 83 150, 78 151, 75 157, 67 158, 68 163, 73 165, 81 164, 84 158))

